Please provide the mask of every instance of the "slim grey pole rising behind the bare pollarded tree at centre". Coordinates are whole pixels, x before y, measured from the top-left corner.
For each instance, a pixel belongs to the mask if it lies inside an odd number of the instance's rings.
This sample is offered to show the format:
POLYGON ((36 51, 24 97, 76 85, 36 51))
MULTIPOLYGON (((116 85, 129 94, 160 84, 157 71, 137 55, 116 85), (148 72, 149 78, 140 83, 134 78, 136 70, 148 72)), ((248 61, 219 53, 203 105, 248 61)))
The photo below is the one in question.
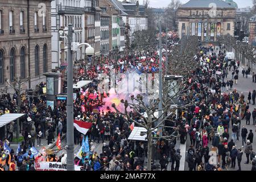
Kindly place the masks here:
MULTIPOLYGON (((162 87, 163 87, 163 82, 162 82, 162 22, 161 20, 159 21, 159 104, 158 104, 158 123, 162 122, 161 119, 162 117, 160 117, 162 115, 162 102, 163 102, 163 98, 162 98, 162 87)), ((159 137, 162 137, 163 134, 163 127, 160 126, 159 127, 159 137)))

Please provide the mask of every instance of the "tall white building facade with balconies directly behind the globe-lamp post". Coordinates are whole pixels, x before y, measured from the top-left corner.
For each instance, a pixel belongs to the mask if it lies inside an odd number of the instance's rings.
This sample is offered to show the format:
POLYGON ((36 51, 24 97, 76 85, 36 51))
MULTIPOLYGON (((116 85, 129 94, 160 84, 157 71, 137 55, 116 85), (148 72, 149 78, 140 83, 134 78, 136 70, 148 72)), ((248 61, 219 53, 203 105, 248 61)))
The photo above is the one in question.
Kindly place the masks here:
MULTIPOLYGON (((67 66, 67 40, 59 40, 59 30, 68 34, 68 24, 76 30, 73 42, 84 42, 84 0, 53 0, 51 2, 52 69, 67 66)), ((74 53, 73 59, 81 59, 81 50, 74 53)))

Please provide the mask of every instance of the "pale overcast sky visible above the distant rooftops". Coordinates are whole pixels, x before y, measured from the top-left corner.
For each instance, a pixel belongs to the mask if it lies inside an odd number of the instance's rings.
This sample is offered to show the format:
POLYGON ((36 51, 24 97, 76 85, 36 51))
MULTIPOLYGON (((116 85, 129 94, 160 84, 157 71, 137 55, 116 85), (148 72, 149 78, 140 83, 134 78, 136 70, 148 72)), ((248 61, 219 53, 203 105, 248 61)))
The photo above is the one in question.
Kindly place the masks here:
MULTIPOLYGON (((182 3, 187 3, 189 0, 180 0, 182 3)), ((237 3, 238 7, 252 6, 252 0, 233 0, 237 3)), ((140 1, 140 3, 143 0, 140 1)), ((166 7, 171 2, 171 0, 150 0, 150 7, 166 7)))

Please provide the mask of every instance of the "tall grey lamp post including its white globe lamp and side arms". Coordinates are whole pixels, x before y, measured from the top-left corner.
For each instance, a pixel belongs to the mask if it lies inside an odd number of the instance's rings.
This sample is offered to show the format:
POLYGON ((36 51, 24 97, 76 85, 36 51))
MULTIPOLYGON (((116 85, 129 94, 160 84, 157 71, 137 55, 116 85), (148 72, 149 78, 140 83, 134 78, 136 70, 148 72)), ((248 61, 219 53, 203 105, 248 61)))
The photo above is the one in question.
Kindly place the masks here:
POLYGON ((61 39, 68 42, 68 83, 67 83, 67 171, 75 171, 74 166, 74 121, 73 121, 73 52, 77 51, 80 46, 88 46, 85 49, 86 55, 92 57, 94 54, 93 47, 88 43, 72 42, 73 40, 73 24, 68 24, 68 36, 64 36, 64 31, 59 30, 61 39))

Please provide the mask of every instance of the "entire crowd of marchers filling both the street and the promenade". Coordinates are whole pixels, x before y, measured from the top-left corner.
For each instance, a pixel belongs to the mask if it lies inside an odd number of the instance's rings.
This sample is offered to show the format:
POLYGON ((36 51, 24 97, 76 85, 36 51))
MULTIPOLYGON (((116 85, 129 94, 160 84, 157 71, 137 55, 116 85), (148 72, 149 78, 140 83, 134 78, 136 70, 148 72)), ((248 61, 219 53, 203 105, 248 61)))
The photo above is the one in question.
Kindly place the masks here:
MULTIPOLYGON (((160 159, 159 163, 152 164, 152 169, 155 171, 167 170, 168 163, 171 163, 172 171, 179 171, 182 157, 188 163, 190 171, 221 171, 229 169, 230 165, 231 168, 235 168, 236 161, 238 170, 242 170, 242 155, 246 155, 248 165, 251 163, 251 170, 256 170, 256 154, 252 145, 255 131, 246 129, 247 125, 256 125, 256 107, 251 109, 249 106, 250 100, 255 105, 255 90, 249 94, 247 99, 243 93, 238 93, 236 89, 233 90, 233 84, 238 84, 240 77, 240 63, 236 64, 234 61, 226 60, 222 49, 217 55, 213 52, 209 54, 209 49, 211 48, 201 47, 195 60, 199 66, 185 78, 187 87, 191 87, 190 90, 194 94, 190 98, 180 99, 183 102, 195 101, 194 104, 180 111, 177 119, 174 115, 171 118, 172 122, 168 124, 171 127, 166 130, 166 135, 179 129, 179 135, 177 135, 179 137, 173 140, 159 139, 155 144, 155 156, 160 159), (234 77, 227 80, 231 69, 234 77), (246 118, 246 125, 241 121, 243 118, 246 118), (232 131, 231 136, 229 131, 232 131), (238 140, 241 139, 240 135, 243 146, 237 148, 238 140), (186 156, 181 156, 180 149, 176 147, 178 138, 180 143, 185 143, 186 140, 187 143, 190 142, 191 146, 186 156), (210 151, 216 152, 217 162, 215 164, 209 162, 212 157, 209 156, 210 151)), ((120 56, 118 61, 125 61, 125 64, 115 65, 115 61, 111 59, 105 60, 105 64, 108 66, 114 64, 117 73, 126 72, 128 69, 147 73, 158 72, 159 55, 155 48, 147 52, 135 53, 135 56, 120 56)), ((81 156, 76 155, 74 164, 84 171, 147 170, 144 166, 144 158, 147 157, 148 150, 147 143, 131 142, 127 139, 132 130, 130 127, 132 122, 112 111, 99 112, 99 107, 104 105, 102 98, 108 96, 98 94, 97 85, 100 80, 97 74, 104 72, 109 75, 109 67, 96 64, 88 68, 83 61, 77 65, 79 65, 79 70, 74 75, 74 82, 86 79, 93 82, 88 85, 87 89, 84 88, 77 92, 78 97, 74 101, 74 119, 92 123, 92 127, 86 136, 74 127, 75 144, 82 146, 84 137, 88 137, 90 141, 89 152, 82 152, 81 156), (98 154, 95 144, 100 142, 103 143, 103 147, 101 154, 98 154)), ((247 73, 250 75, 249 70, 247 73)), ((44 86, 45 84, 40 84, 40 95, 42 95, 44 86)), ((67 82, 64 82, 63 88, 66 86, 67 82)), ((16 112, 17 96, 15 94, 13 99, 10 94, 3 94, 0 100, 1 114, 16 112)), ((22 113, 26 113, 19 120, 22 124, 19 126, 24 140, 16 152, 11 149, 10 142, 13 140, 15 123, 10 123, 9 137, 2 138, 0 143, 0 171, 34 171, 34 165, 37 162, 67 164, 65 152, 61 155, 58 155, 59 151, 52 154, 38 152, 35 155, 31 150, 31 147, 41 146, 42 139, 47 139, 47 144, 50 145, 57 135, 67 132, 65 102, 61 102, 59 107, 51 108, 46 106, 44 97, 34 96, 24 97, 21 106, 22 113)), ((142 121, 136 113, 131 111, 130 115, 135 121, 142 121)))

